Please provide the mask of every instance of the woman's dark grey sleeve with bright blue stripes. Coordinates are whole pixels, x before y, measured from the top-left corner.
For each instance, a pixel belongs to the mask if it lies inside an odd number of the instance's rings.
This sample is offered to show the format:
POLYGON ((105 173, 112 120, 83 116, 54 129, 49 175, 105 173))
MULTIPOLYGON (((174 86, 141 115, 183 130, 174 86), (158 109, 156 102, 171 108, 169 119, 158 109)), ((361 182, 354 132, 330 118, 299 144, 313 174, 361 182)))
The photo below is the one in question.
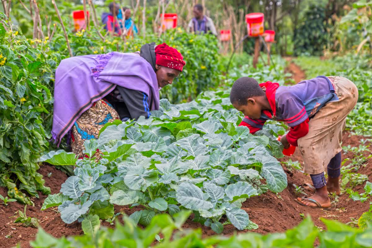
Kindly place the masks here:
POLYGON ((148 96, 142 91, 130 90, 123 87, 117 87, 120 95, 128 108, 131 119, 138 119, 140 116, 150 117, 150 107, 148 96))

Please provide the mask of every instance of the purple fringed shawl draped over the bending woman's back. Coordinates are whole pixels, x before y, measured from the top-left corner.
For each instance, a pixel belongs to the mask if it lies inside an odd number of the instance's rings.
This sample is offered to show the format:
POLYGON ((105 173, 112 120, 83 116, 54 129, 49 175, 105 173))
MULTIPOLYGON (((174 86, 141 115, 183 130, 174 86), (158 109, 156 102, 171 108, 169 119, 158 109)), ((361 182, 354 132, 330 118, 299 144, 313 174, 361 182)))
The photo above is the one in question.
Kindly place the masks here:
POLYGON ((61 61, 55 71, 52 126, 52 138, 58 146, 76 120, 116 85, 142 91, 153 99, 151 110, 159 109, 155 71, 139 54, 110 52, 61 61))

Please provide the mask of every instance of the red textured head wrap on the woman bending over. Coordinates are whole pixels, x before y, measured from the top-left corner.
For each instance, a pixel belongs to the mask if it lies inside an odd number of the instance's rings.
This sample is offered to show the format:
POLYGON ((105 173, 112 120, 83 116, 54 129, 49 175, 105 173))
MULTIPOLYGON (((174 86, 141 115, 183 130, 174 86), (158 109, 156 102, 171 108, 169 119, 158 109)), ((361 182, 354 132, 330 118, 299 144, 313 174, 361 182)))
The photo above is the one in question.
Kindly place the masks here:
POLYGON ((163 43, 155 47, 156 64, 182 71, 186 62, 177 49, 163 43))

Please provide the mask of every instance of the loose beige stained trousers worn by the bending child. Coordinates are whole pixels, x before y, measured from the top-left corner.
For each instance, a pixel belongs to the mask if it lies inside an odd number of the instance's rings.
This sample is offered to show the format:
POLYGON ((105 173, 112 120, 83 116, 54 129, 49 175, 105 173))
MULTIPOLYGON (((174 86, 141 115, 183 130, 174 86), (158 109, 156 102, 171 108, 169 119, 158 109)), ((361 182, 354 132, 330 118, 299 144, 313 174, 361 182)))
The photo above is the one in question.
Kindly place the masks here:
POLYGON ((346 116, 358 100, 358 89, 352 81, 344 77, 328 78, 333 81, 339 100, 325 104, 310 120, 308 134, 297 141, 304 156, 304 172, 308 174, 326 171, 330 160, 342 150, 340 142, 346 116))

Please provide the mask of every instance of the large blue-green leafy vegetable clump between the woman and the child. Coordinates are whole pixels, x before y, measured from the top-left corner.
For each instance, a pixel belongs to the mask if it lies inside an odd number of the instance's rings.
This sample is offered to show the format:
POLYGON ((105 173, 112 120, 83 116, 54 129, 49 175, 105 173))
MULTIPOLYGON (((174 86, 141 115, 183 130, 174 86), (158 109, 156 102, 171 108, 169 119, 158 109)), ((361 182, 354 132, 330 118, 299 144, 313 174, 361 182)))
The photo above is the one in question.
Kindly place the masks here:
POLYGON ((98 140, 85 142, 89 158, 77 160, 65 151, 50 152, 41 161, 76 165, 59 194, 49 195, 42 209, 58 206, 66 223, 97 215, 112 218, 113 204, 141 206, 130 218, 148 225, 156 213, 193 210, 194 220, 221 233, 257 228, 241 209, 246 199, 280 192, 287 178, 275 157, 282 145, 273 131, 251 135, 237 127, 241 117, 225 91, 206 92, 196 101, 170 104, 150 119, 110 123, 98 140), (103 158, 95 160, 97 149, 103 158), (222 216, 227 221, 221 223, 222 216))

